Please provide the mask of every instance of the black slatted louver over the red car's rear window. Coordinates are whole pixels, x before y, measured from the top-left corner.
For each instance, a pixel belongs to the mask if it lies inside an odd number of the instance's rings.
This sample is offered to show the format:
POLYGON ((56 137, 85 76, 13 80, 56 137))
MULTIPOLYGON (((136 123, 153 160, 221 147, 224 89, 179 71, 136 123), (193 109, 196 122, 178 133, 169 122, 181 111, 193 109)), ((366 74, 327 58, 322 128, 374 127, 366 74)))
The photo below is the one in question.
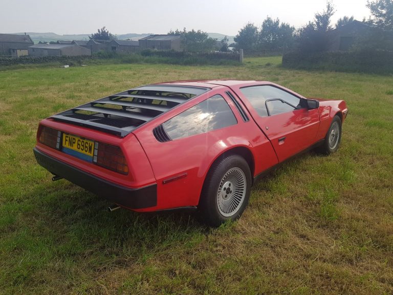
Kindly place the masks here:
POLYGON ((124 137, 140 125, 208 90, 176 85, 142 86, 82 104, 51 118, 124 137))

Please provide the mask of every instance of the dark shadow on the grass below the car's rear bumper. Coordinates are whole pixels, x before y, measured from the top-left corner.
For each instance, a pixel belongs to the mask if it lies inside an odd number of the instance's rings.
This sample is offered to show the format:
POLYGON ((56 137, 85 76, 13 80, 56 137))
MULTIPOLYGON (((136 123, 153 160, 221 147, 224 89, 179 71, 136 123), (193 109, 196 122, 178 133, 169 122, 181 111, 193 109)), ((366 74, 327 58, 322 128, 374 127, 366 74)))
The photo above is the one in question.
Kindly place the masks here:
POLYGON ((67 180, 40 185, 33 196, 34 220, 45 225, 46 231, 63 235, 64 240, 73 237, 71 240, 83 248, 151 249, 186 243, 192 236, 206 235, 210 230, 196 212, 137 213, 123 208, 108 212, 112 203, 67 180))

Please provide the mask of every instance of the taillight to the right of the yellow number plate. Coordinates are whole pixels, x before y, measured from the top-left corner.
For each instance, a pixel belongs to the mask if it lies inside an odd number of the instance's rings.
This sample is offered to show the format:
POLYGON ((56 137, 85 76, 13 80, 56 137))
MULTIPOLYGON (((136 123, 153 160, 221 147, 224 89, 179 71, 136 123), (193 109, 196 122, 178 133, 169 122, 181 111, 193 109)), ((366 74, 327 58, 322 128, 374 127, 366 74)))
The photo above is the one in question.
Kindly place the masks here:
POLYGON ((93 162, 107 169, 128 174, 128 166, 119 146, 96 142, 93 162))

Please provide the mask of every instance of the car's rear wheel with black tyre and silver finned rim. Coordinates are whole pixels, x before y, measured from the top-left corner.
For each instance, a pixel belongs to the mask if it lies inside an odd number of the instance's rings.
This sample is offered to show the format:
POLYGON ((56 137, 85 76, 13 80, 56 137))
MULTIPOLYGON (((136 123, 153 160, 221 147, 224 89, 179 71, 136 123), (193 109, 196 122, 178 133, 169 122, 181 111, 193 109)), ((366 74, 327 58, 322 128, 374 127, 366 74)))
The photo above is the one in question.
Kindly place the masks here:
POLYGON ((246 160, 229 155, 210 168, 203 184, 199 210, 203 222, 220 226, 239 218, 251 193, 251 172, 246 160))

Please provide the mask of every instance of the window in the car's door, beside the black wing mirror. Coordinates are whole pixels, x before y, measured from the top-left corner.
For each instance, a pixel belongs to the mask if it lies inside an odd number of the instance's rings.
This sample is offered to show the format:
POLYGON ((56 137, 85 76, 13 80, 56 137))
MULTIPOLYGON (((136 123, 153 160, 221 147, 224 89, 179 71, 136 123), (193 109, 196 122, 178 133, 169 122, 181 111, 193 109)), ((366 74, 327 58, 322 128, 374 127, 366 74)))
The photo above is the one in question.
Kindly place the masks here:
MULTIPOLYGON (((241 88, 240 90, 243 93, 243 95, 246 96, 246 98, 250 101, 252 107, 261 117, 268 116, 268 111, 266 109, 266 103, 265 103, 266 100, 268 99, 279 98, 287 102, 288 103, 287 107, 283 107, 283 108, 289 109, 288 107, 292 106, 293 107, 292 110, 294 110, 299 107, 300 98, 274 86, 270 86, 270 85, 250 86, 250 87, 241 88)), ((282 103, 279 100, 278 102, 282 103)), ((276 100, 272 100, 272 103, 270 104, 271 105, 277 104, 278 102, 276 100)), ((286 103, 282 103, 282 104, 286 104, 286 103)), ((270 112, 270 115, 273 115, 273 113, 270 112)))

